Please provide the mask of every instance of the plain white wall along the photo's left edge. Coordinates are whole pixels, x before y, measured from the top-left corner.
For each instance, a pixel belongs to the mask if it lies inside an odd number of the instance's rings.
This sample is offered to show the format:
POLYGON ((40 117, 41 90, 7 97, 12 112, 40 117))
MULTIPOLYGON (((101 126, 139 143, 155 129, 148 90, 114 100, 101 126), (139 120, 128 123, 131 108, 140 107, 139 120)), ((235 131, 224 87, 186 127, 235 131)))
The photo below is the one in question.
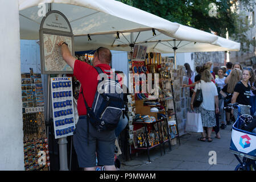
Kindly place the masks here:
POLYGON ((0 1, 0 170, 24 170, 18 1, 0 1))

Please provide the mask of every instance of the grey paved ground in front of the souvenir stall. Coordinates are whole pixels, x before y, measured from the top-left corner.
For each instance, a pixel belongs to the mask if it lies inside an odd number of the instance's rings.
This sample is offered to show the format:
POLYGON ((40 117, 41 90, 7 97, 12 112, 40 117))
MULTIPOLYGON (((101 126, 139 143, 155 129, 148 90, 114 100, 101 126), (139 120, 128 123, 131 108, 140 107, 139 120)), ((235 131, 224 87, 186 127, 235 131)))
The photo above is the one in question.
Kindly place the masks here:
MULTIPOLYGON (((137 156, 133 155, 131 161, 123 162, 121 170, 126 171, 233 171, 238 161, 229 151, 232 126, 220 130, 221 139, 211 137, 213 142, 200 142, 197 138, 199 133, 188 133, 180 137, 180 145, 177 140, 175 146, 168 150, 165 145, 166 154, 160 155, 160 148, 150 151, 150 164, 148 163, 147 152, 141 152, 137 156), (217 164, 209 164, 210 151, 216 152, 217 164), (124 165, 125 164, 125 165, 124 165)), ((211 161, 211 160, 210 160, 211 161)))

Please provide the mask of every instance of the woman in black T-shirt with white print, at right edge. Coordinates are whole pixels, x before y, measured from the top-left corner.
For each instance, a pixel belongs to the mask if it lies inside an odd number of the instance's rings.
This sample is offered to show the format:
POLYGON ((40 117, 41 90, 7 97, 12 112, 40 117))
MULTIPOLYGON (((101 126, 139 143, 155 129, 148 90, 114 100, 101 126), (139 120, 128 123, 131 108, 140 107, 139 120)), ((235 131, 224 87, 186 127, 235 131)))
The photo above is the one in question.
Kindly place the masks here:
MULTIPOLYGON (((234 87, 233 97, 231 103, 238 103, 241 108, 241 114, 250 114, 250 95, 251 87, 248 82, 253 83, 255 81, 254 72, 252 69, 246 68, 242 72, 242 80, 238 81, 234 87)), ((238 117, 237 109, 233 110, 235 121, 238 117)))

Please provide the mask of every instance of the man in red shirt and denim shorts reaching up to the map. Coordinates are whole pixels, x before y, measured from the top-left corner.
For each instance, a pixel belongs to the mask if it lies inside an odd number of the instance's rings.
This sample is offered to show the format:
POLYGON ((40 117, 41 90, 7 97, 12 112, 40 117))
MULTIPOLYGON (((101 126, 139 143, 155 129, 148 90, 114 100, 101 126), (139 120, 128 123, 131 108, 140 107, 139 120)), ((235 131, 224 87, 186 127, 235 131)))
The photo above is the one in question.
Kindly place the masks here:
MULTIPOLYGON (((85 100, 92 107, 94 95, 98 85, 98 72, 93 67, 100 67, 106 74, 110 74, 110 61, 112 53, 108 48, 98 48, 93 57, 93 66, 80 60, 76 60, 68 49, 67 43, 60 42, 61 53, 66 63, 73 69, 73 74, 80 81, 85 100)), ((96 170, 96 152, 98 165, 104 166, 106 170, 115 170, 114 166, 114 144, 115 134, 113 131, 98 132, 89 121, 86 120, 86 107, 81 95, 77 101, 79 121, 73 134, 73 142, 77 153, 79 167, 85 170, 96 170), (89 126, 89 135, 88 135, 89 126), (89 138, 88 138, 89 137, 89 138), (88 142, 89 140, 89 142, 88 142)))

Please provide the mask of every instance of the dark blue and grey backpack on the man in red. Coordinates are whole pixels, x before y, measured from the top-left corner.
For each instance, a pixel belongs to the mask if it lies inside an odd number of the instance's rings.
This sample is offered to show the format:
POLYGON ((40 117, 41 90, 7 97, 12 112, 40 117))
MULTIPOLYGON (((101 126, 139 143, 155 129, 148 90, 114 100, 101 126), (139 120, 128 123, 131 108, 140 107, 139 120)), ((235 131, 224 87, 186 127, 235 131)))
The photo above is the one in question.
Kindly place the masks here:
MULTIPOLYGON (((101 68, 94 68, 97 70, 99 75, 104 73, 101 68)), ((83 92, 82 97, 84 97, 83 92)), ((98 81, 92 107, 88 106, 87 102, 85 101, 85 97, 84 103, 87 110, 87 120, 89 120, 89 122, 96 128, 96 130, 111 131, 117 127, 118 122, 122 116, 123 90, 119 85, 118 80, 104 80, 101 78, 101 80, 98 81)))

